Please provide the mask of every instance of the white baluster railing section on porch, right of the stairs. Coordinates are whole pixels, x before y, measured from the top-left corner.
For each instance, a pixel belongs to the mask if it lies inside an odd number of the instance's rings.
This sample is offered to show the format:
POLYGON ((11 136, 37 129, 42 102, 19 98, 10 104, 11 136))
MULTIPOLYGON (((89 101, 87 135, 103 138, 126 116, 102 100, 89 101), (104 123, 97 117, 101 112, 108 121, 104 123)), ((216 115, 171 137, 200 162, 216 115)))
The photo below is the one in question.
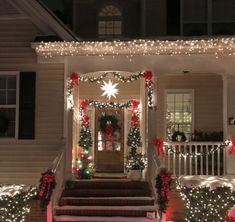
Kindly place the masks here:
MULTIPOLYGON (((173 176, 226 173, 226 151, 219 142, 165 142, 163 165, 173 176)), ((162 165, 162 164, 161 164, 162 165)))

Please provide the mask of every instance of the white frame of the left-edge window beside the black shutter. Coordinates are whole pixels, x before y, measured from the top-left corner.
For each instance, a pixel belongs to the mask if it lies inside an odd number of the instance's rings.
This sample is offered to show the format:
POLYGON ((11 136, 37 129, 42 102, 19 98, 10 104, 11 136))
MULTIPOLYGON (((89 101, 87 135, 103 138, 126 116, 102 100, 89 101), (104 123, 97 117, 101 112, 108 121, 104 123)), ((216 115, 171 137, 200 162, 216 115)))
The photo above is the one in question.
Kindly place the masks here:
MULTIPOLYGON (((16 104, 15 105, 0 105, 2 108, 15 108, 15 137, 18 138, 19 135, 19 97, 20 97, 20 72, 19 71, 0 71, 0 75, 14 75, 16 76, 16 104)), ((1 139, 6 139, 2 137, 1 139)))

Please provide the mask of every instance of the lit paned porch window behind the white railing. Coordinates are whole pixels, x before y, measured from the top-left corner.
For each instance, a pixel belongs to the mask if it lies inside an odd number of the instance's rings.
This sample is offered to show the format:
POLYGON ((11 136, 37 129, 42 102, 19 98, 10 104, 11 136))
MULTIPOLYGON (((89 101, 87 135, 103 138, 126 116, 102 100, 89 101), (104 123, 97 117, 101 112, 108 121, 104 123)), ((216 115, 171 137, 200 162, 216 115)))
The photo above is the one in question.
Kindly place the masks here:
POLYGON ((166 103, 167 139, 171 140, 173 133, 180 131, 190 140, 193 122, 192 91, 167 91, 166 103))

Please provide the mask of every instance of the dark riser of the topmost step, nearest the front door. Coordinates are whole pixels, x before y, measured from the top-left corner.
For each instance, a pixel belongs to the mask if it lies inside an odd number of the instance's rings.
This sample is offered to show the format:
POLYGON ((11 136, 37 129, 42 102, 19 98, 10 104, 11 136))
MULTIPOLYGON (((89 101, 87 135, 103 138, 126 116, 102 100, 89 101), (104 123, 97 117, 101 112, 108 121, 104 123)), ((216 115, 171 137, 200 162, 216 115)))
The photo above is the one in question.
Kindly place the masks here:
POLYGON ((149 189, 149 185, 144 181, 130 181, 128 179, 93 179, 74 180, 67 182, 68 188, 103 188, 103 189, 149 189))

